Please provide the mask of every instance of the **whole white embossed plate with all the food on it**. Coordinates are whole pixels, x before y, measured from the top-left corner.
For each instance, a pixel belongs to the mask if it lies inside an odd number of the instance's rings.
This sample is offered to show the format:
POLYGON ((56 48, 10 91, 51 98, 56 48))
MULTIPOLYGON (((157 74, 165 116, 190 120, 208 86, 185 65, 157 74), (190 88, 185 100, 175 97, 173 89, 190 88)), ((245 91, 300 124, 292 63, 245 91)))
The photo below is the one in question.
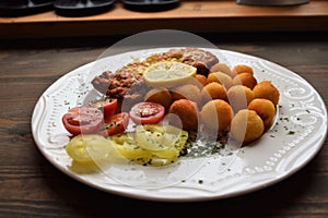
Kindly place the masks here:
POLYGON ((270 61, 159 48, 66 74, 39 98, 32 128, 42 154, 78 181, 137 198, 199 201, 261 189, 302 168, 320 148, 325 111, 306 81, 270 61), (163 69, 183 73, 167 77, 163 69))

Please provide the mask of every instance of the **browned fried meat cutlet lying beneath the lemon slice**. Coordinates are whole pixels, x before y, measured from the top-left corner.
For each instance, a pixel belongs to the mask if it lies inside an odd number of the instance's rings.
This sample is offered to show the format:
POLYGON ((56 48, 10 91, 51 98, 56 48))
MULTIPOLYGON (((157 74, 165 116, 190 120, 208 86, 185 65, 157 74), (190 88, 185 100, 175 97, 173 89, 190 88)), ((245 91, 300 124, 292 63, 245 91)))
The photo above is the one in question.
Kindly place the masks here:
MULTIPOLYGON (((149 65, 161 61, 177 61, 196 66, 197 73, 206 76, 209 69, 219 62, 214 55, 199 48, 169 49, 166 52, 152 55, 142 62, 128 63, 115 73, 103 72, 93 78, 92 85, 106 96, 119 99, 126 98, 134 85, 138 87, 144 85, 144 92, 147 92, 148 88, 143 83, 142 74, 149 65)), ((130 95, 132 94, 130 93, 130 95)))

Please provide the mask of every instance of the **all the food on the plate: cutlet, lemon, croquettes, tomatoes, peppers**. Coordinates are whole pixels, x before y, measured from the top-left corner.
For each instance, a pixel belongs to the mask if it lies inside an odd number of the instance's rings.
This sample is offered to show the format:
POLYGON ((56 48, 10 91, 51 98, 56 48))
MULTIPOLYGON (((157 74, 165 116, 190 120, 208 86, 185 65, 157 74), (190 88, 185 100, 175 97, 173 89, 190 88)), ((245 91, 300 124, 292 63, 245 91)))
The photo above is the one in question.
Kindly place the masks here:
POLYGON ((66 150, 83 164, 110 161, 112 155, 166 166, 197 150, 200 133, 247 146, 272 126, 280 97, 270 81, 257 81, 251 66, 230 69, 199 48, 152 55, 96 75, 92 85, 103 98, 62 117, 72 135, 66 150), (98 155, 90 155, 91 145, 98 155))

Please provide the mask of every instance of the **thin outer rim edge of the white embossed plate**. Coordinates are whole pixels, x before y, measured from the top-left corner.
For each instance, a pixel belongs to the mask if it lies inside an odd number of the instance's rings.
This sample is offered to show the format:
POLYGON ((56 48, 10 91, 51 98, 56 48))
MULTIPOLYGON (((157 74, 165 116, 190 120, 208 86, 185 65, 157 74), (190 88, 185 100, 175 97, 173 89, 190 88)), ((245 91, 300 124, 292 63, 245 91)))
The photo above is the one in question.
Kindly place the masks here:
MULTIPOLYGON (((165 48, 166 49, 166 48, 165 48)), ((203 48, 203 49, 207 49, 209 51, 215 51, 216 49, 212 49, 212 48, 203 48)), ((139 51, 130 51, 130 52, 126 52, 126 53, 134 53, 134 52, 140 52, 140 51, 156 51, 157 49, 143 49, 143 50, 139 50, 139 51)), ((248 58, 248 59, 251 59, 251 60, 258 60, 258 61, 263 61, 266 63, 269 63, 273 66, 277 66, 277 68, 280 68, 280 69, 283 69, 285 71, 289 71, 289 73, 292 73, 294 75, 297 76, 297 80, 301 80, 303 81, 308 87, 313 88, 313 86, 307 82, 305 81, 302 76, 297 75, 296 73, 290 71, 289 69, 285 69, 274 62, 271 62, 271 61, 268 61, 268 60, 265 60, 262 58, 258 58, 258 57, 255 57, 255 56, 251 56, 251 55, 246 55, 246 53, 241 53, 241 52, 236 52, 236 51, 231 51, 231 50, 220 50, 221 52, 223 53, 229 53, 229 55, 232 55, 232 56, 239 56, 239 57, 245 57, 245 58, 248 58)), ((116 56, 121 56, 121 55, 125 55, 125 53, 120 53, 120 55, 116 55, 116 56)), ((114 56, 115 57, 115 56, 114 56)), ((107 58, 112 58, 112 57, 107 57, 107 58)), ((107 59, 106 58, 106 59, 107 59)), ((36 111, 36 108, 37 106, 40 104, 39 101, 42 100, 42 97, 47 94, 51 87, 54 87, 56 84, 58 85, 58 83, 62 82, 63 80, 66 80, 67 77, 71 76, 71 75, 75 75, 77 73, 79 73, 79 71, 81 71, 82 69, 87 69, 90 68, 93 63, 93 62, 90 62, 90 63, 86 63, 84 65, 81 65, 77 69, 74 69, 73 71, 62 75, 61 77, 59 77, 55 83, 52 83, 44 93, 43 95, 39 97, 38 101, 36 102, 35 105, 35 108, 33 110, 33 114, 32 114, 32 121, 35 121, 35 118, 37 116, 37 111, 36 111)), ((164 195, 156 195, 154 194, 155 191, 151 191, 149 192, 149 190, 136 190, 136 187, 129 187, 129 186, 125 186, 122 184, 120 185, 110 185, 110 184, 104 184, 102 185, 98 181, 90 181, 90 178, 89 177, 85 177, 85 175, 81 175, 81 174, 77 174, 77 173, 73 173, 71 171, 69 171, 66 167, 59 165, 55 159, 54 157, 51 157, 47 150, 44 148, 44 146, 42 145, 39 138, 36 137, 35 135, 35 128, 36 128, 36 124, 37 123, 34 123, 32 122, 31 125, 32 125, 32 130, 33 130, 33 137, 34 137, 34 141, 38 147, 38 149, 40 150, 40 153, 43 154, 43 156, 48 160, 50 161, 50 164, 52 166, 55 166, 57 169, 59 169, 61 172, 63 172, 65 174, 71 177, 72 179, 81 182, 81 183, 84 183, 89 186, 92 186, 94 189, 97 189, 97 190, 101 190, 101 191, 104 191, 104 192, 107 192, 107 193, 112 193, 112 194, 116 194, 116 195, 120 195, 120 196, 125 196, 125 197, 132 197, 132 198, 139 198, 139 199, 147 199, 147 201, 157 201, 157 202, 199 202, 199 201, 210 201, 210 199, 219 199, 219 198, 227 198, 227 197, 234 197, 234 196, 238 196, 238 195, 243 195, 243 194, 247 194, 247 193, 250 193, 250 192, 255 192, 255 191, 258 191, 258 190, 261 190, 261 189, 265 189, 267 186, 270 186, 272 184, 276 184, 289 177, 291 177, 292 174, 294 174, 295 172, 297 172, 298 170, 301 170, 304 166, 306 166, 317 154, 318 152, 320 150, 320 148, 323 147, 324 145, 324 142, 325 142, 325 138, 327 137, 327 108, 325 106, 325 102, 324 100, 321 99, 320 95, 313 88, 313 90, 315 92, 315 94, 317 95, 317 98, 318 100, 323 104, 321 107, 324 109, 324 118, 326 118, 326 123, 325 123, 325 130, 321 132, 323 134, 320 135, 319 137, 319 141, 316 142, 316 145, 312 148, 312 153, 309 156, 307 156, 307 159, 303 160, 301 162, 301 165, 294 167, 293 169, 290 169, 289 171, 285 171, 284 173, 276 173, 276 179, 272 179, 272 180, 269 180, 269 181, 262 181, 261 183, 254 183, 254 185, 250 185, 246 189, 242 189, 242 190, 236 190, 234 192, 216 192, 216 193, 212 193, 212 194, 209 194, 209 195, 200 195, 200 196, 188 196, 188 197, 185 197, 184 195, 180 196, 180 195, 176 195, 176 196, 166 196, 165 194, 164 195), (129 191, 126 191, 126 190, 134 190, 134 192, 129 192, 129 191)), ((167 187, 167 189, 171 189, 171 187, 167 187)), ((176 189, 176 187, 173 187, 173 189, 176 189)), ((190 189, 190 187, 186 187, 186 189, 190 189)))

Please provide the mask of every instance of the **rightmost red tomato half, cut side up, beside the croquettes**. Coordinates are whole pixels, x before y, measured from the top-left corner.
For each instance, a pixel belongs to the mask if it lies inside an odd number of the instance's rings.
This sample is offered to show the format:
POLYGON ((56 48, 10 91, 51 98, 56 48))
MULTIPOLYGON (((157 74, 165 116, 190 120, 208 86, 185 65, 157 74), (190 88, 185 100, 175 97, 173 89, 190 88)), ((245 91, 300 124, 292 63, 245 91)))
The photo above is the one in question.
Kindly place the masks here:
POLYGON ((139 102, 130 110, 130 118, 137 124, 156 124, 163 120, 165 108, 156 102, 139 102))

